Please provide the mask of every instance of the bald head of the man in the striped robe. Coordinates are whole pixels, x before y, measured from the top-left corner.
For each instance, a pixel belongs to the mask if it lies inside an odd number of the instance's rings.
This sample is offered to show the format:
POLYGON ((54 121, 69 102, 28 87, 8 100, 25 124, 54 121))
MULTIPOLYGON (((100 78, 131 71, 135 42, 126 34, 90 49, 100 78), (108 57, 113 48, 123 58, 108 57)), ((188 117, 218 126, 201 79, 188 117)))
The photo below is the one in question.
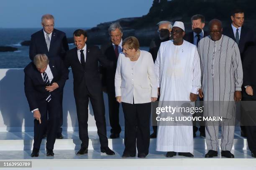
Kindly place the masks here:
POLYGON ((210 36, 213 41, 220 40, 222 36, 222 23, 218 19, 210 20, 209 22, 210 36))

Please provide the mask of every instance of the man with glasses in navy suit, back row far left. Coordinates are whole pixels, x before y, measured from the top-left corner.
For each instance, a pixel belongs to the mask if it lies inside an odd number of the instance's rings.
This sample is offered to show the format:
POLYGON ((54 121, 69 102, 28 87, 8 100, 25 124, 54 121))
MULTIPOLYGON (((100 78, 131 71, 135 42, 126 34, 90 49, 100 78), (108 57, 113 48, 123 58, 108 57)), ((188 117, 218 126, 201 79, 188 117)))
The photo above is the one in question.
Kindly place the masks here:
MULTIPOLYGON (((33 60, 36 54, 46 54, 49 59, 59 58, 64 59, 64 56, 69 50, 69 45, 67 43, 66 34, 60 30, 54 29, 54 16, 50 14, 43 15, 41 18, 42 30, 35 32, 31 35, 31 43, 29 47, 29 57, 33 60)), ((63 114, 62 114, 62 98, 63 89, 61 95, 61 115, 59 120, 59 128, 57 130, 56 138, 62 139, 62 124, 63 124, 63 114)))

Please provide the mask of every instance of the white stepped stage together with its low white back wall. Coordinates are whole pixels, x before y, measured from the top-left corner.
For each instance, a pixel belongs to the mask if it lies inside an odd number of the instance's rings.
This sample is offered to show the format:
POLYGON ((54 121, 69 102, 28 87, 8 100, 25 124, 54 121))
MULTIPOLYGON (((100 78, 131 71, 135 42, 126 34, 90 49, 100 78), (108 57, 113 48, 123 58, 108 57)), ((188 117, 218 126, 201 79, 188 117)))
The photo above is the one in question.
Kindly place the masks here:
MULTIPOLYGON (((45 143, 43 140, 38 158, 31 158, 33 148, 33 114, 29 111, 24 94, 23 69, 0 69, 0 161, 30 161, 32 168, 38 170, 70 170, 102 169, 102 170, 153 170, 153 169, 181 169, 181 170, 256 170, 256 159, 251 157, 247 149, 247 141, 236 131, 233 150, 234 159, 221 158, 220 152, 217 158, 204 158, 206 151, 205 139, 194 139, 194 158, 174 156, 165 158, 164 152, 157 152, 156 139, 150 141, 150 151, 145 159, 121 158, 124 149, 123 132, 118 139, 109 139, 109 147, 115 151, 115 155, 100 153, 100 143, 95 132, 95 120, 92 107, 89 105, 88 130, 89 152, 86 155, 76 155, 81 141, 78 137, 78 122, 73 95, 73 77, 69 73, 64 87, 63 99, 63 135, 64 139, 56 140, 54 157, 46 157, 45 143)), ((104 93, 107 130, 109 127, 108 100, 104 93)), ((122 108, 120 107, 120 125, 124 125, 122 108)), ((124 128, 122 127, 122 130, 124 128)), ((240 128, 236 128, 239 130, 240 128)), ((108 132, 108 136, 110 133, 108 132)), ((197 134, 198 136, 199 134, 197 134)), ((1 168, 5 169, 5 168, 1 168)), ((6 168, 31 169, 31 168, 6 168)))

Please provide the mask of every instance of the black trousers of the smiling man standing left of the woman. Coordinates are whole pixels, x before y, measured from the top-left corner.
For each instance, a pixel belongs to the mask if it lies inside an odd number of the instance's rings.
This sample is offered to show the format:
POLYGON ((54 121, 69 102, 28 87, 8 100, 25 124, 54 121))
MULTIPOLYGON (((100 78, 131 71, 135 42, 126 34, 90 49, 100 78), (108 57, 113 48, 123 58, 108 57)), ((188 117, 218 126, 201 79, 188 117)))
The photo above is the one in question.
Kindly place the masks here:
POLYGON ((92 110, 96 121, 97 133, 100 138, 100 145, 102 148, 106 148, 108 147, 108 138, 102 90, 99 90, 99 92, 96 93, 90 93, 87 87, 84 88, 83 92, 79 92, 79 95, 75 95, 79 138, 82 141, 81 148, 88 148, 89 145, 87 124, 89 98, 92 103, 92 110))

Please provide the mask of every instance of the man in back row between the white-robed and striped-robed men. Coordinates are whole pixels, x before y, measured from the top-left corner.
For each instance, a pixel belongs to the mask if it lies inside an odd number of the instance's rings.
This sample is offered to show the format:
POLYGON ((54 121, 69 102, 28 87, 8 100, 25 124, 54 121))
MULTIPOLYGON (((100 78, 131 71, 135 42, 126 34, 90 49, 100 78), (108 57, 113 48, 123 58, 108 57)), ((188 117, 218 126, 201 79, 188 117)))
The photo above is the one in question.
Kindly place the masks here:
MULTIPOLYGON (((207 31, 203 30, 203 28, 205 27, 205 17, 200 14, 193 15, 191 17, 191 26, 192 26, 192 32, 185 34, 184 40, 197 46, 198 42, 203 37, 209 35, 207 31)), ((197 100, 199 101, 200 99, 198 98, 197 100)), ((194 138, 197 136, 196 135, 197 130, 198 128, 196 126, 193 126, 194 138)), ((200 136, 205 137, 205 126, 200 126, 199 131, 200 131, 200 136)))

